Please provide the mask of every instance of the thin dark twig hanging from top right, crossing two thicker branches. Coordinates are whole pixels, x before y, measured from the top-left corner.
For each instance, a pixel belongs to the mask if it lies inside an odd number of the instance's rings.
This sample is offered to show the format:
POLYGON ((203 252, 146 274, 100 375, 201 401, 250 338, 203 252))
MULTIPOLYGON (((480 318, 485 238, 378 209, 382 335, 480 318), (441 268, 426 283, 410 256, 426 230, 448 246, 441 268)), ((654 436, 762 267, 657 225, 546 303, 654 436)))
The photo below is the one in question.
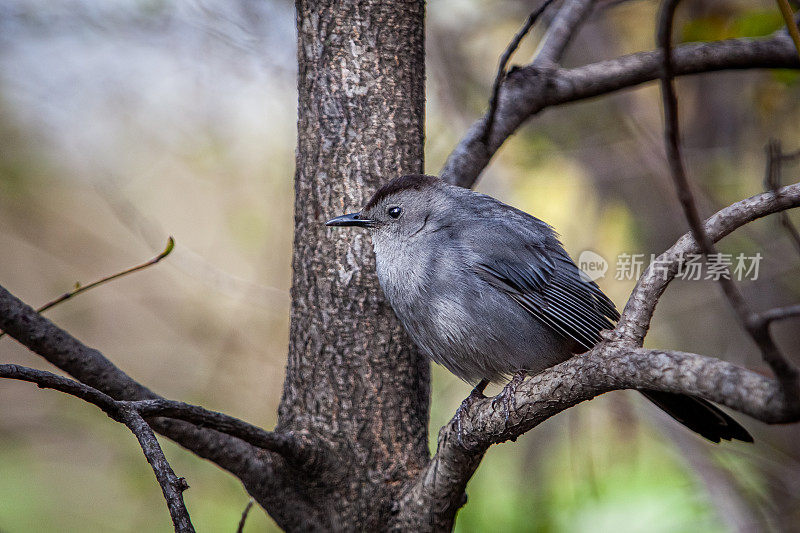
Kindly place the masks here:
MULTIPOLYGON (((683 165, 680 146, 680 128, 678 124, 678 102, 674 87, 674 66, 672 58, 672 23, 675 8, 680 0, 664 0, 658 15, 658 45, 662 51, 661 96, 664 106, 664 143, 669 161, 672 179, 683 207, 684 215, 689 222, 692 235, 697 241, 701 253, 706 257, 716 253, 714 241, 703 228, 703 221, 692 194, 686 170, 683 165)), ((800 372, 784 355, 769 334, 767 327, 756 320, 755 315, 745 302, 730 275, 718 278, 722 292, 728 299, 736 316, 761 350, 762 357, 770 365, 778 381, 783 386, 787 401, 800 402, 800 372)))

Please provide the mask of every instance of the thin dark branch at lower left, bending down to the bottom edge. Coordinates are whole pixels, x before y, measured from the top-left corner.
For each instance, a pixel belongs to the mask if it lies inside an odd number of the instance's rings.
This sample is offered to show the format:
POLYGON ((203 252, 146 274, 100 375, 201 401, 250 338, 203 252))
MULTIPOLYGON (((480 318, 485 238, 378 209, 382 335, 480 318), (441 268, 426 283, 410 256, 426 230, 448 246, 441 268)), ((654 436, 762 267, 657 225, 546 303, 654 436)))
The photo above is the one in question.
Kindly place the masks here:
POLYGON ((189 486, 185 479, 175 475, 153 430, 135 409, 88 385, 43 370, 19 365, 0 365, 0 377, 28 381, 36 383, 40 388, 54 389, 70 394, 99 407, 112 419, 125 424, 136 436, 147 462, 150 463, 153 473, 156 475, 167 501, 175 531, 194 532, 189 512, 183 503, 183 491, 189 486))

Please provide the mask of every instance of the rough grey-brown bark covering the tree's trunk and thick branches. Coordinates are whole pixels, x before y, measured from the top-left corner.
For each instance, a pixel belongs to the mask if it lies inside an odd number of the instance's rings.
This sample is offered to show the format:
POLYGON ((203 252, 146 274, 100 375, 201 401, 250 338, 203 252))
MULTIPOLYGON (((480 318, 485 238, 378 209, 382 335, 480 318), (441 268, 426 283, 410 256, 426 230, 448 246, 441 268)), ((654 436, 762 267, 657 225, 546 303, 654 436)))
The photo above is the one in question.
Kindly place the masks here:
MULTIPOLYGON (((556 19, 551 42, 543 47, 545 65, 534 63, 504 78, 496 127, 483 139, 479 121, 451 157, 445 178, 474 183, 505 139, 545 107, 658 76, 658 52, 575 69, 557 65, 590 4, 564 4, 562 9, 576 11, 556 19)), ((460 425, 454 419, 442 428, 429 459, 428 362, 412 349, 383 300, 368 236, 323 225, 357 210, 384 181, 423 171, 423 21, 422 1, 297 2, 294 279, 286 381, 274 432, 159 397, 0 287, 0 329, 83 386, 35 371, 26 374, 33 376, 29 380, 69 382, 58 390, 86 392, 90 386, 103 405, 135 415, 130 425, 146 421, 232 472, 292 531, 449 530, 489 446, 611 390, 689 393, 768 423, 800 419, 798 405, 787 401, 775 379, 710 357, 641 347, 682 254, 699 250, 687 235, 660 257, 669 262, 666 276, 651 268, 640 278, 604 342, 523 382, 513 390, 507 414, 490 399, 473 404, 460 425)), ((675 73, 797 67, 789 47, 784 35, 684 45, 675 50, 675 73)), ((737 202, 706 221, 705 231, 717 240, 758 217, 797 206, 800 184, 737 202)), ((790 306, 761 316, 797 313, 790 306)), ((5 372, 0 377, 21 375, 18 368, 5 372)), ((154 451, 145 449, 148 457, 154 451)))

